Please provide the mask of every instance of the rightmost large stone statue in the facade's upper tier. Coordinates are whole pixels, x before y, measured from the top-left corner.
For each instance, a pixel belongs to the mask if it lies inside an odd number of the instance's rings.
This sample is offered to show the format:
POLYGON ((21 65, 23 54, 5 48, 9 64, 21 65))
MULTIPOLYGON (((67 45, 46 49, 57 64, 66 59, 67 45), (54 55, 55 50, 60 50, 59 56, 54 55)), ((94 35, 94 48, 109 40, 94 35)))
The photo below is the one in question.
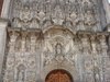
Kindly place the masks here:
POLYGON ((92 14, 90 10, 87 10, 85 13, 85 23, 88 25, 92 24, 92 14))

